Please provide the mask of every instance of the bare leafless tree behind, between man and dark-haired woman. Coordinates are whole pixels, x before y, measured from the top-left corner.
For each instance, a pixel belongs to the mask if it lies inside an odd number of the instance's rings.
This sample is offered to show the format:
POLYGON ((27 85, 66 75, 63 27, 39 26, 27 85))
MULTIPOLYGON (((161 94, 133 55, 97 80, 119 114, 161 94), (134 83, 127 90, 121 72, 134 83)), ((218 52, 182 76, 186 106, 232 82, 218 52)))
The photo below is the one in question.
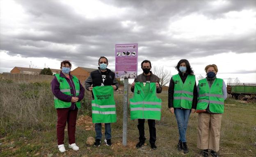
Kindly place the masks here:
POLYGON ((157 75, 160 78, 160 85, 165 86, 171 80, 171 71, 167 71, 163 66, 153 66, 152 68, 153 74, 157 75))

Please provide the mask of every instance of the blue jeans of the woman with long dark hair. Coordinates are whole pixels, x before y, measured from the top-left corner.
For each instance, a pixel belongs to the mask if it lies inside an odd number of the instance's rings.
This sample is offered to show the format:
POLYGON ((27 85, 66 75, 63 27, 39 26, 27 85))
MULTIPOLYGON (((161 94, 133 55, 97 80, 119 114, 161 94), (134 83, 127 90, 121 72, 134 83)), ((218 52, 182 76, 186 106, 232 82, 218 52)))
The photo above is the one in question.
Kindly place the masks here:
POLYGON ((174 114, 176 116, 177 124, 178 124, 178 131, 181 142, 186 141, 186 132, 187 132, 187 123, 190 117, 191 110, 184 109, 184 108, 174 108, 174 114))

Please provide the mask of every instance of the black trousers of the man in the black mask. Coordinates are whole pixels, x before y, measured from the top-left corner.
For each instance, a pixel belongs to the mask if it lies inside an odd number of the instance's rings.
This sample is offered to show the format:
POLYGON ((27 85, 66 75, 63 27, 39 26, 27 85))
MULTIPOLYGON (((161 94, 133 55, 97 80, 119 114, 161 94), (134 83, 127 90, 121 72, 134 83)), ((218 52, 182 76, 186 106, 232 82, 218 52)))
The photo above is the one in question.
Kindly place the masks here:
MULTIPOLYGON (((145 142, 145 132, 144 132, 144 123, 145 119, 138 119, 138 129, 139 129, 139 141, 145 142)), ((148 119, 149 124, 149 143, 155 144, 156 140, 156 131, 155 131, 155 119, 148 119)))

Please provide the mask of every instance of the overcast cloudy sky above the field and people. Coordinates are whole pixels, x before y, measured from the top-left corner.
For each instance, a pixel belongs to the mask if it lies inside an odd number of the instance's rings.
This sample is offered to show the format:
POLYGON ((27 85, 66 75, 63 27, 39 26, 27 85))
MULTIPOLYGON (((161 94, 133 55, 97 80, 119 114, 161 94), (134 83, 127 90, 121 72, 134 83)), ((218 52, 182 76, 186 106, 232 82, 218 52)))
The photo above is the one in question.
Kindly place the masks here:
MULTIPOLYGON (((139 63, 171 74, 187 59, 198 75, 256 82, 255 0, 0 0, 0 73, 14 66, 59 69, 62 60, 114 70, 115 44, 138 43, 139 63)), ((138 68, 138 72, 142 70, 138 68)))

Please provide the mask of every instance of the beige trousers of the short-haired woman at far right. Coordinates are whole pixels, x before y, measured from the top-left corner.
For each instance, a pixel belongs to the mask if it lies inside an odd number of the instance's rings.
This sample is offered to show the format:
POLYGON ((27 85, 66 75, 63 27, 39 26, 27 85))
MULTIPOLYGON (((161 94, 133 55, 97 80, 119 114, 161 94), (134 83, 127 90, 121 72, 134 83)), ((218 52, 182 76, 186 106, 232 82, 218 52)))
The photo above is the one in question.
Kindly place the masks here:
POLYGON ((220 124, 222 114, 199 113, 197 126, 197 148, 219 150, 220 124))

